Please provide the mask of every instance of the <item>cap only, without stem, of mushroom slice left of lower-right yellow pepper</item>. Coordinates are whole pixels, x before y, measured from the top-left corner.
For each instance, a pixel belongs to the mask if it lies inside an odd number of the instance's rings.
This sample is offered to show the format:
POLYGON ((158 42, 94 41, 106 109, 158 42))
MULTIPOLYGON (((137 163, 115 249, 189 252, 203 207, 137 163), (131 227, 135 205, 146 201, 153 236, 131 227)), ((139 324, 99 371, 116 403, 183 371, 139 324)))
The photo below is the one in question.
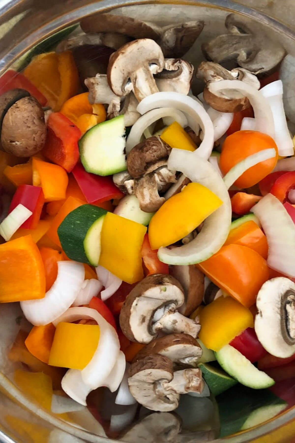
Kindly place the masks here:
POLYGON ((152 330, 153 315, 160 307, 184 303, 184 290, 172 276, 152 274, 145 277, 127 295, 120 312, 123 334, 132 342, 149 343, 157 337, 152 330))

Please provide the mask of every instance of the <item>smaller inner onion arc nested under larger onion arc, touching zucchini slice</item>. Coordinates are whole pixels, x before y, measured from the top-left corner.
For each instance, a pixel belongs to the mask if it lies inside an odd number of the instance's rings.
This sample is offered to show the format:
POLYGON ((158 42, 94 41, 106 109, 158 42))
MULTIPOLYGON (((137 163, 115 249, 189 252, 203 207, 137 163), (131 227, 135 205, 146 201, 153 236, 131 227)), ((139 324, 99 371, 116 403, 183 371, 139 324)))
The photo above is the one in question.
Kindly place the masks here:
POLYGON ((129 154, 131 149, 140 142, 143 132, 152 123, 163 117, 172 117, 182 127, 188 125, 188 121, 184 114, 173 107, 161 107, 159 109, 152 109, 134 123, 126 140, 126 154, 129 154))

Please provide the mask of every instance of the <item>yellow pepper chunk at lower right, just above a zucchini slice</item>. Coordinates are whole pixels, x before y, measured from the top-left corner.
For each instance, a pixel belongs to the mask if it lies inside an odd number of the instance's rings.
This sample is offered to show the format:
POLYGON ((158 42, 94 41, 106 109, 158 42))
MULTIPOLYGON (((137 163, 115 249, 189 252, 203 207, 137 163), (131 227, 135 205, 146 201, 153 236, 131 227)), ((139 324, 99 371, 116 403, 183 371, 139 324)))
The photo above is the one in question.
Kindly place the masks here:
POLYGON ((248 308, 232 297, 218 297, 200 312, 199 338, 204 345, 218 351, 243 330, 254 326, 248 308))

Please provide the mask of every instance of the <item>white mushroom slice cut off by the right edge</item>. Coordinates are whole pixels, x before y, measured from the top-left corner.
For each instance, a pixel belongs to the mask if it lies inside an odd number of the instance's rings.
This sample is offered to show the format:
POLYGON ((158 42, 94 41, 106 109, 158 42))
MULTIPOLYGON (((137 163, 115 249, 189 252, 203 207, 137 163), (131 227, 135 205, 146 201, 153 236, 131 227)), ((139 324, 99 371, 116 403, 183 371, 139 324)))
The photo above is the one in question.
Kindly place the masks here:
POLYGON ((286 277, 265 282, 258 292, 255 332, 275 357, 295 354, 295 284, 286 277))

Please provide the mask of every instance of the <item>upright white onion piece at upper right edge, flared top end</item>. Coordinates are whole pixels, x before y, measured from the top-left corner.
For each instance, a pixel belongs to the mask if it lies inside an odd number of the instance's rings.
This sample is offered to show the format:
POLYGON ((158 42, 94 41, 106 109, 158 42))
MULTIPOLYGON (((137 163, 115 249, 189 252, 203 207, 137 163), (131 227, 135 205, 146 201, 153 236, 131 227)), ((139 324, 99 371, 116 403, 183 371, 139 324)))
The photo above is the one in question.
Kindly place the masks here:
POLYGON ((283 83, 281 80, 269 83, 260 89, 268 101, 275 122, 275 142, 279 155, 287 157, 294 154, 293 140, 291 139, 283 104, 283 83))

